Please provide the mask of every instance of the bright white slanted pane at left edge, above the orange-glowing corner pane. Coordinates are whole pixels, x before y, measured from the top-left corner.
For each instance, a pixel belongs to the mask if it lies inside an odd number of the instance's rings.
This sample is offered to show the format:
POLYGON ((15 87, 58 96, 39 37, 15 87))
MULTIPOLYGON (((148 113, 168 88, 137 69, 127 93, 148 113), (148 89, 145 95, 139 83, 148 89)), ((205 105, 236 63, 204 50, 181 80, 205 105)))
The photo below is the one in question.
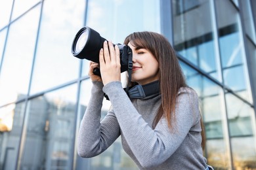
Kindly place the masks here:
POLYGON ((40 7, 10 25, 9 37, 0 76, 3 105, 28 93, 40 7))

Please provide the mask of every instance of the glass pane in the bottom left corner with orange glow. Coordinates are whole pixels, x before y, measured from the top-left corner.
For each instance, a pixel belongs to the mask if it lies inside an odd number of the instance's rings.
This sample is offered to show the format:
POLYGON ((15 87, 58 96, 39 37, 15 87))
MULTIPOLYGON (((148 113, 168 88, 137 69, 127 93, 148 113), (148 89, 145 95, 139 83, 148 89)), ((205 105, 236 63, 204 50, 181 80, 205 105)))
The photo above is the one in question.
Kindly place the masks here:
POLYGON ((15 169, 24 108, 25 103, 11 104, 0 108, 0 169, 15 169), (3 119, 7 117, 10 119, 5 122, 3 119), (3 132, 5 127, 10 127, 10 131, 3 132))

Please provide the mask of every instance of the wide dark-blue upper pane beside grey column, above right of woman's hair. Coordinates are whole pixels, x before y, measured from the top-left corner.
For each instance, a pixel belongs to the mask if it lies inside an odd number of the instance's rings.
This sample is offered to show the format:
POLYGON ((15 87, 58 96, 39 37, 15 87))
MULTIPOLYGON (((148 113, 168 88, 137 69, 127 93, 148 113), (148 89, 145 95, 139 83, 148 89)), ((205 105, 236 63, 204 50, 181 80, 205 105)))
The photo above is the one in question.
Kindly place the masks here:
POLYGON ((174 48, 209 75, 219 77, 210 1, 173 0, 174 48))

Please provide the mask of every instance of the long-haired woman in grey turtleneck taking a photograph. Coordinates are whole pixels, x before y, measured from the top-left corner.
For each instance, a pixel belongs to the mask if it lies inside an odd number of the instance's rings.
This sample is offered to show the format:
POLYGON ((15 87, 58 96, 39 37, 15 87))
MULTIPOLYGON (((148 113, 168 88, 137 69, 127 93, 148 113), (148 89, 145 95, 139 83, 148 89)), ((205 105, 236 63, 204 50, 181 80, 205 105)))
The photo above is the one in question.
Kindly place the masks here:
POLYGON ((119 48, 104 42, 99 67, 91 63, 91 99, 81 121, 78 154, 96 156, 121 135, 123 149, 140 169, 208 169, 203 157, 201 116, 196 92, 186 86, 167 39, 137 32, 126 39, 133 50, 132 84, 158 87, 146 97, 129 97, 121 86, 119 48), (100 122, 104 93, 112 109, 100 122))

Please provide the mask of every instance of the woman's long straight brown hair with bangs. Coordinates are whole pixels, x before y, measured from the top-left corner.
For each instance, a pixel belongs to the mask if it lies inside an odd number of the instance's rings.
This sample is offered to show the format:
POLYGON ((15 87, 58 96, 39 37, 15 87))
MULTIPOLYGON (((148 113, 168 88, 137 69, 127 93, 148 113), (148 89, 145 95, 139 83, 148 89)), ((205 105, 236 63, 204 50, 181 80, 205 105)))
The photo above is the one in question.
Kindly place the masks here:
MULTIPOLYGON (((161 105, 154 119, 153 128, 156 127, 163 114, 167 118, 168 126, 171 128, 171 120, 175 119, 175 103, 179 88, 187 87, 175 50, 163 35, 150 31, 128 35, 124 44, 129 42, 136 48, 149 50, 159 63, 161 105)), ((203 125, 202 119, 201 125, 203 125)), ((203 145, 204 133, 202 126, 203 145)))

